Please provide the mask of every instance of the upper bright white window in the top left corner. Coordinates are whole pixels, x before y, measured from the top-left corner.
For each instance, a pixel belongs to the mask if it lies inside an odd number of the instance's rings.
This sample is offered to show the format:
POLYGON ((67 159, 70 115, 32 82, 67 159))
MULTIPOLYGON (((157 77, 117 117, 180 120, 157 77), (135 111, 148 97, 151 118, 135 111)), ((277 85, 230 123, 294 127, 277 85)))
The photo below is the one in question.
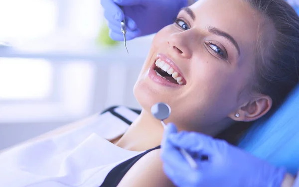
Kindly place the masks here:
POLYGON ((57 6, 53 0, 0 0, 0 39, 33 39, 56 27, 57 6))

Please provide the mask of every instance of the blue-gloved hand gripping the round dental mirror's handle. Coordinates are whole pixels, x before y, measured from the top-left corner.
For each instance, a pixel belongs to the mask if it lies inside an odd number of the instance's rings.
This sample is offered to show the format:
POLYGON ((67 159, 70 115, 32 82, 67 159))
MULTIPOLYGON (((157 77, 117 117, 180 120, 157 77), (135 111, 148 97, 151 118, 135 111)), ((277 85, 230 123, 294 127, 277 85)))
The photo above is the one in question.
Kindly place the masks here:
POLYGON ((163 169, 178 187, 281 187, 286 171, 210 136, 181 131, 169 123, 161 144, 163 169), (196 160, 191 169, 178 148, 196 160), (201 160, 200 155, 208 156, 201 160))

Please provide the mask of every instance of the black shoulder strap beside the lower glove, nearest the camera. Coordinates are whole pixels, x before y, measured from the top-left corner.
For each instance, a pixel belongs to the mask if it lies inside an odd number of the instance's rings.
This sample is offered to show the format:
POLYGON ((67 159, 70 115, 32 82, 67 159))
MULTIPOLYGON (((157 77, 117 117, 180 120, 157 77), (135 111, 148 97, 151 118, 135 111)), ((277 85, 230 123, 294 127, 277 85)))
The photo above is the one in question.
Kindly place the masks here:
POLYGON ((100 187, 117 187, 118 184, 121 182, 123 177, 126 175, 126 173, 130 170, 130 168, 139 160, 141 157, 145 156, 147 153, 149 153, 152 150, 160 149, 160 146, 157 146, 155 148, 149 149, 145 151, 144 153, 141 153, 121 164, 113 168, 107 177, 105 178, 103 184, 100 187))

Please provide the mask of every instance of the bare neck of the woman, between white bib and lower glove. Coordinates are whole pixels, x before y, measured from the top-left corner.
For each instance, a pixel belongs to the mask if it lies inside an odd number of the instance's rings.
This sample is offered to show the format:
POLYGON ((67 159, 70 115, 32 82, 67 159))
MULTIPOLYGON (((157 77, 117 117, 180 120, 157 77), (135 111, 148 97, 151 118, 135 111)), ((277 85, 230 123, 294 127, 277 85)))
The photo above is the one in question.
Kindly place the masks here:
POLYGON ((131 151, 145 151, 160 145, 163 130, 159 120, 142 110, 116 145, 131 151))

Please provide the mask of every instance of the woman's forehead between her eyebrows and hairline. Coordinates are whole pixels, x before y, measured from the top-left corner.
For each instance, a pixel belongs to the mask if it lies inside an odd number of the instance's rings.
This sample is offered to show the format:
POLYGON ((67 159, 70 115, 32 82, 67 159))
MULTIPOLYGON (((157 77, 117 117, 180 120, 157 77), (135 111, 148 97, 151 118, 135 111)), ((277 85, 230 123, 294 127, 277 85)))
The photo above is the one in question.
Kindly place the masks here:
POLYGON ((231 35, 240 48, 256 45, 261 14, 243 0, 199 0, 190 6, 194 26, 215 27, 231 35), (249 45, 249 46, 248 46, 249 45))

